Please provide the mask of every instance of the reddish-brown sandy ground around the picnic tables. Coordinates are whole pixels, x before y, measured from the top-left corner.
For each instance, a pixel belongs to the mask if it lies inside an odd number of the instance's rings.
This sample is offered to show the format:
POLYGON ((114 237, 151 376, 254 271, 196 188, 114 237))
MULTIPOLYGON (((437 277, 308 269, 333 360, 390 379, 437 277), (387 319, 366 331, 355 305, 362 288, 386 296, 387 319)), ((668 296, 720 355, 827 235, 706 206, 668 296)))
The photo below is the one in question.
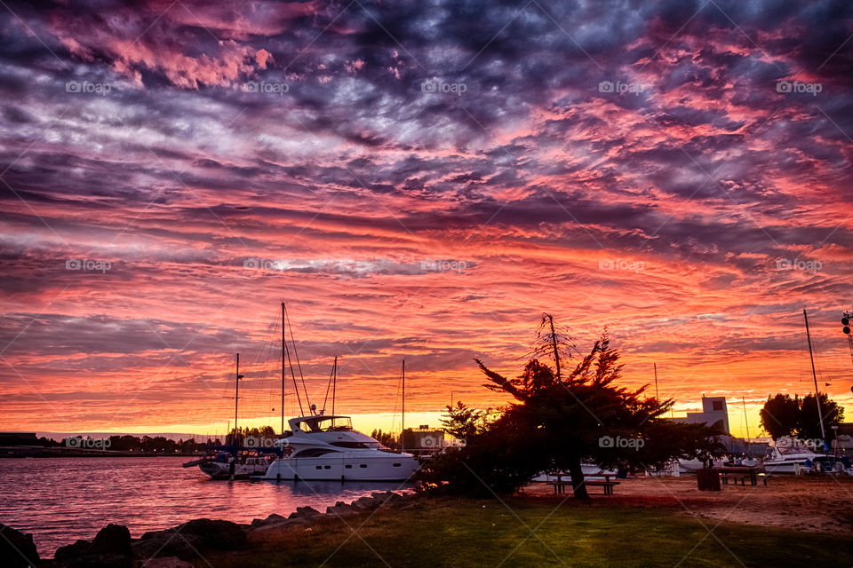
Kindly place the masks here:
MULTIPOLYGON (((698 491, 696 476, 620 479, 613 495, 590 487, 596 503, 673 508, 684 514, 747 525, 773 525, 812 533, 853 537, 853 477, 770 477, 767 486, 722 485, 720 492, 698 491)), ((531 484, 524 493, 555 498, 554 486, 531 484)), ((561 496, 562 497, 562 496, 561 496)))

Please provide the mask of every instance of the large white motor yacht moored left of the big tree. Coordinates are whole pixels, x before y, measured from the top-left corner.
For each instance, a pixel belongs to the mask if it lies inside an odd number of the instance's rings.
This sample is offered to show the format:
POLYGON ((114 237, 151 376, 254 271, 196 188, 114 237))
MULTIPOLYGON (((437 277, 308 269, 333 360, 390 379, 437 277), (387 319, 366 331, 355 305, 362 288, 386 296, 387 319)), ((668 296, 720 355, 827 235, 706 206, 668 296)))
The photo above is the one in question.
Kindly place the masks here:
POLYGON ((323 414, 288 421, 291 454, 273 461, 263 479, 404 481, 418 470, 412 454, 399 454, 353 430, 348 416, 323 414))

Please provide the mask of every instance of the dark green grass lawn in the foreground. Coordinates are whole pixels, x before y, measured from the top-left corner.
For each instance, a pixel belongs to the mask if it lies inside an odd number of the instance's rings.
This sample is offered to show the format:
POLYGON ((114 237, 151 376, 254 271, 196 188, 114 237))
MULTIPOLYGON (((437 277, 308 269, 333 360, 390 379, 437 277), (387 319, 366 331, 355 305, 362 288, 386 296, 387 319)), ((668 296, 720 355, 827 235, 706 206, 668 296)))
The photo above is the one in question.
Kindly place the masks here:
POLYGON ((205 556, 216 568, 853 565, 844 535, 718 524, 672 509, 570 501, 557 508, 559 501, 532 499, 506 504, 512 510, 475 500, 379 509, 372 517, 347 517, 346 524, 329 518, 310 530, 298 527, 239 553, 205 556))

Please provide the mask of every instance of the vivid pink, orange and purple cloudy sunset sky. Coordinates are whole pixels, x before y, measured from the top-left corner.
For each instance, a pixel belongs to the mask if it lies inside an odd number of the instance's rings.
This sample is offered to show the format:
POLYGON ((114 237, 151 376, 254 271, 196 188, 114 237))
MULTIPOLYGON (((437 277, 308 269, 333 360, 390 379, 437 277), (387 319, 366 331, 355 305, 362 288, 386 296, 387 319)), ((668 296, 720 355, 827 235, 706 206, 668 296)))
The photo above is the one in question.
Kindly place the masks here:
POLYGON ((542 312, 754 436, 805 307, 850 420, 853 4, 80 4, 0 9, 0 430, 221 432, 237 351, 277 428, 282 300, 361 430, 542 312))

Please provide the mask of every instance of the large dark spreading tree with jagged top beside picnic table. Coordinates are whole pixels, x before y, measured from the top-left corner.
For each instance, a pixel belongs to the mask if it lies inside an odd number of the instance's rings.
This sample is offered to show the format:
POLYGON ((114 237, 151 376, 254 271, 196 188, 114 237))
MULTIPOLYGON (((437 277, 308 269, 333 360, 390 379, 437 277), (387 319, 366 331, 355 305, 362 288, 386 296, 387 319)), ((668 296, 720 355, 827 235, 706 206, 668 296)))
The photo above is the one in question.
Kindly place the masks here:
MULTIPOLYGON (((547 325, 550 333, 550 318, 547 325)), ((538 359, 530 359, 514 379, 475 359, 490 380, 485 386, 515 400, 488 423, 478 422, 464 406, 454 409, 450 422, 467 432, 466 446, 427 463, 421 478, 459 493, 482 493, 483 487, 511 493, 540 471, 568 471, 573 493, 586 499, 581 463, 587 459, 602 467, 642 469, 719 449, 716 430, 661 418, 672 399, 645 398, 648 385, 618 386, 618 359, 606 334, 559 377, 538 359)))

